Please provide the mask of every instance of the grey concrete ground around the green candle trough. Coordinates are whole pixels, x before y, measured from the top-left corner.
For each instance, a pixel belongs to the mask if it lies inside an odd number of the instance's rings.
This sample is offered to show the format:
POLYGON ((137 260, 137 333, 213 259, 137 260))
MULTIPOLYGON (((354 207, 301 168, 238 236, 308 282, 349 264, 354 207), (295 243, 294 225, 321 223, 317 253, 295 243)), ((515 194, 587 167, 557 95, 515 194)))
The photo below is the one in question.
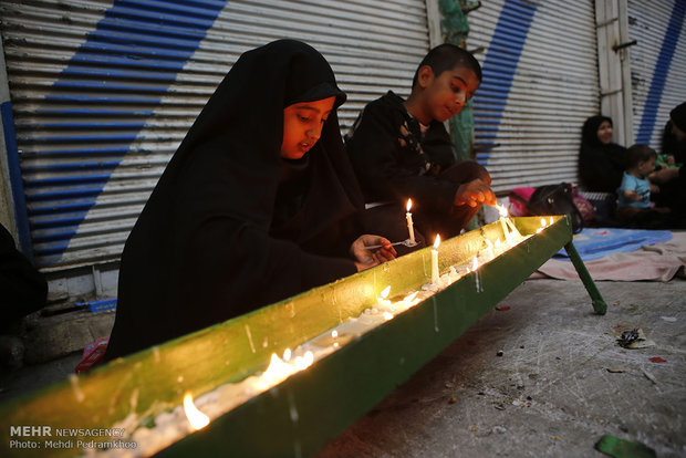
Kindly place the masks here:
MULTIPOLYGON (((596 284, 604 316, 580 281, 522 283, 318 458, 601 457, 603 435, 685 457, 686 281, 596 284), (655 346, 617 345, 634 327, 655 346)), ((2 374, 0 402, 80 358, 2 374)))

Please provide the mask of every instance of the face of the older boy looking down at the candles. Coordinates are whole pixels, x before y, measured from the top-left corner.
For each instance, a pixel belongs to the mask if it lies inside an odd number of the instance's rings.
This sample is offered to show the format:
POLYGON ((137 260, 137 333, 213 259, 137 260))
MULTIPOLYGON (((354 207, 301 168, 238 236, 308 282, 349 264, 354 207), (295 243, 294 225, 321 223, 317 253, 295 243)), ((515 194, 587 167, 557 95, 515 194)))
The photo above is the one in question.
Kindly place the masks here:
POLYGON ((462 110, 481 82, 469 69, 455 67, 436 76, 426 65, 419 69, 418 84, 425 90, 425 111, 433 119, 443 123, 462 110))

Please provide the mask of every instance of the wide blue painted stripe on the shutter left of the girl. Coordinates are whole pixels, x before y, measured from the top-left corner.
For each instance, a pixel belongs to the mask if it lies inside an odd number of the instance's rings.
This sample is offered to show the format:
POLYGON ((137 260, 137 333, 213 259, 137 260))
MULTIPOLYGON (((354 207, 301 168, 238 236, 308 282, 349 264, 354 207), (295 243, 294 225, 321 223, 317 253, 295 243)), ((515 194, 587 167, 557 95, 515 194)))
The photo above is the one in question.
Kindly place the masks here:
MULTIPOLYGON (((45 215, 48 219, 34 221, 31 229, 33 235, 33 252, 37 257, 44 257, 42 266, 59 262, 64 250, 79 226, 83 222, 89 210, 95 205, 97 196, 107 184, 112 171, 122 158, 132 150, 131 144, 145 126, 145 118, 150 116, 150 110, 137 110, 126 104, 158 105, 162 96, 176 81, 188 59, 198 49, 200 41, 212 27, 225 1, 194 1, 194 0, 115 0, 98 21, 95 30, 89 33, 85 42, 70 60, 70 64, 54 82, 58 89, 83 91, 79 94, 60 94, 49 96, 52 102, 79 103, 83 107, 66 110, 45 108, 39 113, 62 114, 67 116, 136 116, 141 122, 122 121, 122 123, 90 123, 64 122, 35 125, 51 129, 79 129, 79 133, 69 135, 33 134, 32 129, 24 129, 18 140, 31 144, 50 144, 59 146, 70 144, 62 149, 39 150, 37 155, 70 156, 77 159, 69 165, 52 165, 52 170, 67 171, 60 178, 35 178, 31 171, 39 171, 40 167, 27 167, 23 179, 25 201, 20 202, 23 215, 45 215), (134 54, 135 55, 132 55, 134 54), (100 65, 100 66, 98 66, 100 65), (106 65, 106 66, 105 66, 106 65), (121 65, 121 67, 116 67, 121 65), (114 66, 114 67, 113 67, 114 66), (150 72, 137 69, 155 66, 160 72, 150 72), (113 77, 116 81, 107 81, 113 77), (146 84, 139 83, 145 81, 146 84), (145 91, 146 95, 136 93, 145 91), (87 91, 115 91, 110 94, 91 94, 87 91), (157 92, 159 97, 150 96, 157 92), (108 107, 98 107, 98 104, 108 104, 108 107), (112 110, 112 105, 121 104, 122 111, 112 110), (108 132, 108 129, 126 129, 126 133, 108 132), (83 131, 93 134, 84 135, 83 131), (117 145, 106 147, 96 145, 87 147, 91 142, 116 142, 117 145), (83 147, 73 144, 83 143, 83 147), (128 145, 128 146, 127 146, 128 145), (97 155, 107 155, 105 163, 93 163, 85 159, 97 155), (69 171, 73 170, 73 174, 69 171), (62 187, 63 189, 60 189, 62 187), (74 199, 77 201, 61 202, 51 206, 51 200, 74 199), (27 207, 25 204, 29 204, 27 207), (50 235, 40 232, 45 228, 54 228, 50 235), (40 244, 40 246, 37 246, 40 244)), ((102 105, 101 105, 102 106, 102 105)), ((4 116, 4 110, 3 110, 4 116)), ((3 118, 4 121, 4 118, 3 118)), ((13 125, 3 123, 4 125, 13 125)), ((40 132, 37 129, 35 132, 40 132)), ((6 137, 8 137, 6 133, 6 137)), ((14 135, 10 136, 14 138, 14 135)), ((17 147, 15 147, 17 150, 17 147)), ((29 222, 27 220, 27 236, 29 222)), ((30 244, 28 244, 30 246, 30 244)))

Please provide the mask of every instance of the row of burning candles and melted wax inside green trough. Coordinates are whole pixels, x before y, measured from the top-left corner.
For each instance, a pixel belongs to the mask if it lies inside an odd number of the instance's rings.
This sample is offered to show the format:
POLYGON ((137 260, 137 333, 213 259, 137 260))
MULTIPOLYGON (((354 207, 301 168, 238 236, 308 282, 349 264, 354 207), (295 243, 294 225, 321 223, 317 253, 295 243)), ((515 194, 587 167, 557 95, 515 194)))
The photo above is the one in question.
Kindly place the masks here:
MULTIPOLYGON (((408 204, 408 210, 410 204, 408 204)), ((410 227, 410 221, 412 216, 408 218, 408 227, 410 227)), ((541 228, 537 232, 552 225, 552 217, 549 220, 541 219, 541 228)), ((439 289, 447 288, 466 274, 477 271, 484 263, 489 262, 509 248, 531 237, 522 237, 507 216, 501 218, 500 223, 502 225, 505 241, 498 238, 493 243, 489 239, 484 239, 484 248, 469 262, 450 266, 443 275, 440 275, 438 268, 440 237, 437 236, 432 248, 430 283, 422 287, 419 291, 406 293, 401 300, 396 301, 388 299, 391 287, 386 287, 376 298, 376 304, 365 309, 357 318, 347 319, 335 326, 335 329, 329 330, 299 345, 295 351, 285 348, 282 357, 272 354, 269 366, 264 372, 250 376, 239 383, 222 385, 214 392, 202 395, 199 398, 199 408, 196 407, 190 393, 186 393, 183 408, 179 406, 173 413, 163 413, 155 418, 154 423, 162 428, 158 434, 152 433, 152 429, 147 427, 136 428, 138 423, 136 419, 128 419, 128 421, 135 421, 134 424, 129 423, 118 426, 125 426, 125 429, 134 430, 133 439, 137 441, 139 447, 137 451, 144 455, 154 454, 173 441, 180 439, 185 434, 206 427, 211 418, 229 412, 250 397, 279 385, 300 371, 306 369, 316 361, 337 351, 345 343, 377 325, 393 320, 397 314, 425 301, 439 289), (183 425, 184 423, 186 423, 186 426, 183 425)), ((477 289, 479 289, 478 275, 476 279, 477 289)), ((119 454, 113 449, 107 450, 105 455, 118 456, 119 454)))

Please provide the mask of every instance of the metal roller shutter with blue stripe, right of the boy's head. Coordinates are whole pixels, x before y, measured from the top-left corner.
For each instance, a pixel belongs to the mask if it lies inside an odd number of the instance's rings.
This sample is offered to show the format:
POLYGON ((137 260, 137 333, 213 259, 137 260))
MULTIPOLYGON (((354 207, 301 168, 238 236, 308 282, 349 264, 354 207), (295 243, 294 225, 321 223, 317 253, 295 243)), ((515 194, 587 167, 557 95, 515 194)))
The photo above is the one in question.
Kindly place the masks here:
POLYGON ((485 1, 469 22, 468 48, 485 50, 477 159, 493 189, 575 183, 581 127, 599 111, 593 1, 485 1))

